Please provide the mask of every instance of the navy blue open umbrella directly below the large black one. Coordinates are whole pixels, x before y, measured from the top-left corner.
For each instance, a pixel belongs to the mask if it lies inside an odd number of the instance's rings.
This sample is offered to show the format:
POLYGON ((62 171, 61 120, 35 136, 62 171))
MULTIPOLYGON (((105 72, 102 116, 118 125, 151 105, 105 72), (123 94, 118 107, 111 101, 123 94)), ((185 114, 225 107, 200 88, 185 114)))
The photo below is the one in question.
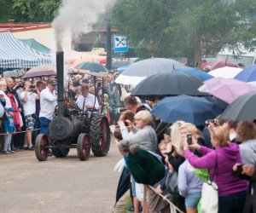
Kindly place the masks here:
POLYGON ((195 125, 203 125, 207 119, 216 118, 221 112, 212 102, 189 95, 166 97, 151 111, 166 123, 183 120, 195 125))

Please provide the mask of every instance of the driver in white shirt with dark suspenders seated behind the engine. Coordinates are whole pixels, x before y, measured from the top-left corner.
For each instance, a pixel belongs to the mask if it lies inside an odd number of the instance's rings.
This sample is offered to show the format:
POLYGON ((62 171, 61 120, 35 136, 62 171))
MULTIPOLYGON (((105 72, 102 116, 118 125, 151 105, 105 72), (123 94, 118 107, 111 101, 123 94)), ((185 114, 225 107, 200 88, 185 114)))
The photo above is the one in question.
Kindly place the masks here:
POLYGON ((99 103, 95 95, 89 93, 89 86, 83 86, 81 89, 81 94, 76 101, 78 107, 84 112, 86 109, 98 109, 99 103))

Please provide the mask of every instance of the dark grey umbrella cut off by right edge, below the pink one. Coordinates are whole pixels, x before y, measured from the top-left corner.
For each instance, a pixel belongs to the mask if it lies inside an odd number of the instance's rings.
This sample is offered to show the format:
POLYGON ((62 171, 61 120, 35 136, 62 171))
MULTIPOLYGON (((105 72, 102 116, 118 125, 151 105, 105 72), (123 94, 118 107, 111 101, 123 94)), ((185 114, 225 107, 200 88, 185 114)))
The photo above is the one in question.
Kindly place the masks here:
POLYGON ((233 121, 256 119, 255 103, 256 92, 241 95, 224 110, 221 118, 233 121))

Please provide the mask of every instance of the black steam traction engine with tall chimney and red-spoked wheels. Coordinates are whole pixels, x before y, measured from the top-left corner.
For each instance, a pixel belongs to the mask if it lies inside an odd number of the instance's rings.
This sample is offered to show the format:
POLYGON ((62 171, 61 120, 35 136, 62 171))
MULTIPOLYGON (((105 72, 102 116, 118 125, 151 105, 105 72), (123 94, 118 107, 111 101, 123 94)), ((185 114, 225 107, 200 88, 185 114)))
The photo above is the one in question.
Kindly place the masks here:
MULTIPOLYGON (((96 73, 103 77, 104 74, 96 73)), ((64 109, 63 53, 57 53, 58 113, 49 124, 49 135, 39 134, 35 153, 39 161, 45 161, 51 148, 56 158, 66 157, 70 148, 77 148, 80 160, 90 156, 90 148, 96 157, 106 156, 110 147, 108 119, 94 112, 81 112, 77 108, 64 109), (90 115, 90 116, 89 116, 90 115)))

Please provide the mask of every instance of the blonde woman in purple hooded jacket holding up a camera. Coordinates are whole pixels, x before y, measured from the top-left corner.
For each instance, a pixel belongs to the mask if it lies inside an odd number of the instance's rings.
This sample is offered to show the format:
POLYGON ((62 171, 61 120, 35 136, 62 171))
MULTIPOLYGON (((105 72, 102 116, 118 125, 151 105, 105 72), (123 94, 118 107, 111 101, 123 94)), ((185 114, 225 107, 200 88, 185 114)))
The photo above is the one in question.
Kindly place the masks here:
POLYGON ((212 128, 210 133, 215 150, 200 146, 196 141, 192 141, 192 145, 184 141, 184 156, 193 167, 209 170, 210 179, 218 186, 218 212, 241 213, 247 181, 232 176, 234 162, 241 163, 239 147, 230 143, 229 131, 223 126, 212 128), (196 157, 190 149, 199 151, 203 156, 196 157))

